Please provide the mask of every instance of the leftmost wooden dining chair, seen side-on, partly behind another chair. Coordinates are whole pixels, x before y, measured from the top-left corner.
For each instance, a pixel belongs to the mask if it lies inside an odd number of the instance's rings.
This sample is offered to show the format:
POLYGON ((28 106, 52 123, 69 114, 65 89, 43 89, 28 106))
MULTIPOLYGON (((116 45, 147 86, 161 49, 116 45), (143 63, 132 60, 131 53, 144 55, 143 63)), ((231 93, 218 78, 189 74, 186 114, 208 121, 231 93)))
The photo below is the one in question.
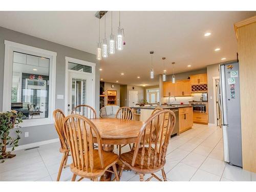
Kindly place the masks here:
POLYGON ((59 140, 60 140, 60 148, 59 148, 59 152, 62 153, 62 159, 60 161, 60 165, 59 165, 59 172, 58 172, 58 176, 57 176, 57 181, 59 181, 61 172, 62 172, 62 168, 66 168, 67 166, 67 160, 68 160, 68 156, 69 156, 69 148, 68 148, 68 143, 67 140, 65 138, 65 134, 64 134, 64 130, 63 130, 63 120, 65 118, 65 114, 57 109, 54 110, 53 112, 53 120, 54 120, 54 126, 55 129, 57 131, 57 134, 59 136, 59 140))

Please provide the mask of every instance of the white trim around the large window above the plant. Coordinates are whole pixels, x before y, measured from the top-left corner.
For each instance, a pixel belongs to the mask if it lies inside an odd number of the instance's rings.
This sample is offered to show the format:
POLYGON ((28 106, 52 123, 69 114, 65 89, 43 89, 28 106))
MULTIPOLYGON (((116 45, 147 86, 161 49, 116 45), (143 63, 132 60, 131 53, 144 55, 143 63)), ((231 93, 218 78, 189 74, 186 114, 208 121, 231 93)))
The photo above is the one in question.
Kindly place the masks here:
POLYGON ((12 90, 12 67, 13 67, 13 51, 22 52, 31 55, 39 55, 50 59, 49 74, 49 106, 48 118, 40 119, 24 119, 19 125, 22 127, 52 124, 52 113, 55 109, 55 88, 56 88, 56 52, 39 49, 17 42, 5 40, 5 67, 4 67, 4 89, 3 89, 3 109, 2 111, 11 110, 11 90, 12 90))

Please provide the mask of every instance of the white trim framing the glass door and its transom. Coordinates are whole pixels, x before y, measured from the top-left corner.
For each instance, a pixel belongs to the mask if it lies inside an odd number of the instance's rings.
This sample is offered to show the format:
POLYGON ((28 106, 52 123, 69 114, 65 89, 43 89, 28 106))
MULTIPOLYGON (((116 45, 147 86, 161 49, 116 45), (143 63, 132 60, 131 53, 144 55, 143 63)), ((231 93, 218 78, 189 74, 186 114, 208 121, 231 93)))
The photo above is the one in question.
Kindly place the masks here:
POLYGON ((96 63, 93 62, 89 62, 89 61, 84 61, 84 60, 80 60, 80 59, 76 59, 76 58, 72 58, 72 57, 65 57, 66 60, 66 70, 65 70, 65 114, 68 115, 68 92, 69 92, 69 71, 72 71, 74 73, 87 73, 87 72, 80 72, 80 71, 74 71, 74 70, 69 70, 69 62, 73 62, 73 63, 77 63, 80 65, 84 65, 84 66, 90 66, 92 67, 92 73, 88 73, 88 74, 92 74, 92 78, 93 78, 93 84, 92 84, 92 89, 93 91, 93 108, 95 109, 95 93, 96 93, 96 89, 95 89, 95 78, 96 78, 96 73, 95 73, 95 68, 96 68, 96 63))

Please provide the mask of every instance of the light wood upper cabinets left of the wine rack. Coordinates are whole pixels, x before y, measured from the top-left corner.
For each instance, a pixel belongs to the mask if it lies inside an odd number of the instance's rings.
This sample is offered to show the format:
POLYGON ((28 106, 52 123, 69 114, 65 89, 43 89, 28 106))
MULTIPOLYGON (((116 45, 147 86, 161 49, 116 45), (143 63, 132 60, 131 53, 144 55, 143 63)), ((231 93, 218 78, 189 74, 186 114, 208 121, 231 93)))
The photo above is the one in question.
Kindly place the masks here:
POLYGON ((190 96, 191 86, 189 80, 179 80, 175 83, 164 82, 163 83, 163 96, 190 96))

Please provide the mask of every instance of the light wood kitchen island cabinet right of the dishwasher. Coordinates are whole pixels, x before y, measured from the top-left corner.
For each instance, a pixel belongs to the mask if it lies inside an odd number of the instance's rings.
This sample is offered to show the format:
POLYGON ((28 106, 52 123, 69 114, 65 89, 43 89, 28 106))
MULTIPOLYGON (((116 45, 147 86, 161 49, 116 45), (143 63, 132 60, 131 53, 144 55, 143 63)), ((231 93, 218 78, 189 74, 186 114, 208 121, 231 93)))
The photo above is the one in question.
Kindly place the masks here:
POLYGON ((180 108, 179 109, 179 127, 180 133, 185 132, 193 126, 193 108, 180 108))

